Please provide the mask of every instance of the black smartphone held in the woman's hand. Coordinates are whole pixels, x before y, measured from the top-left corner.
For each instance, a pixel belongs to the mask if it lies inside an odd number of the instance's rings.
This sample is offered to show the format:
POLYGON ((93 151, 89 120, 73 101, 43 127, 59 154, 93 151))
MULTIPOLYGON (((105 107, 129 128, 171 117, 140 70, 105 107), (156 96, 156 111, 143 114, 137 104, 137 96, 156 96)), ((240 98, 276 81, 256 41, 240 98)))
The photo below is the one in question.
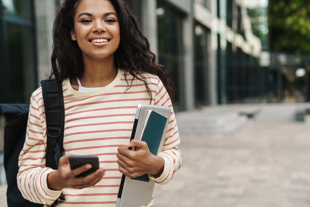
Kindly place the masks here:
POLYGON ((76 177, 82 177, 89 175, 92 172, 95 172, 99 169, 99 157, 94 155, 71 155, 68 157, 70 169, 73 170, 75 168, 81 167, 85 164, 91 164, 91 169, 82 172, 76 177))

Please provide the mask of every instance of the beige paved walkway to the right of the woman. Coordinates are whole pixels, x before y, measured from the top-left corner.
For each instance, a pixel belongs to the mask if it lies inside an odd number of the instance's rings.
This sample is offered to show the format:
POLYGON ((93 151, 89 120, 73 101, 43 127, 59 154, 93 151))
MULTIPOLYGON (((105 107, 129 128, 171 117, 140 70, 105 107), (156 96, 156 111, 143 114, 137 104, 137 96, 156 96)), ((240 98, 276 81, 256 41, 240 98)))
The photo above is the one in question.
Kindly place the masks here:
POLYGON ((310 121, 250 122, 235 135, 184 135, 183 164, 155 207, 310 206, 310 121))

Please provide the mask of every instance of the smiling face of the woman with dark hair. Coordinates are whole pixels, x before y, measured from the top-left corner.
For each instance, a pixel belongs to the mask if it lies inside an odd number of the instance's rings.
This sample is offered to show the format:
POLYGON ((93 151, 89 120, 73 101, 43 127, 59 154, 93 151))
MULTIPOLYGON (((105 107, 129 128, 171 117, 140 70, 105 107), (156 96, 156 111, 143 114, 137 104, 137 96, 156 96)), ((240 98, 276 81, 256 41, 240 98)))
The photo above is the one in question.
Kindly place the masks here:
POLYGON ((120 43, 120 30, 111 2, 82 0, 75 11, 71 39, 78 42, 83 56, 104 59, 113 55, 120 43))

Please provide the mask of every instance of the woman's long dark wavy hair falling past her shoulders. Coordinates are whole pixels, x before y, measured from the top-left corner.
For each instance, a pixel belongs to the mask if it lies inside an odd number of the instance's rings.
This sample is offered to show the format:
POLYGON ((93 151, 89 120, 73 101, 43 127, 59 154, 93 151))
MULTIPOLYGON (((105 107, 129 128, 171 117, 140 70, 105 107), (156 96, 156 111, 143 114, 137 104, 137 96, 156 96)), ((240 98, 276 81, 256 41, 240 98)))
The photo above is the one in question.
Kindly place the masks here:
MULTIPOLYGON (((66 0, 56 11, 52 33, 53 51, 50 79, 57 79, 61 82, 68 77, 74 78, 83 74, 82 51, 70 36, 71 30, 74 29, 75 10, 80 1, 66 0)), ((155 54, 150 51, 148 39, 142 33, 128 4, 124 0, 109 1, 117 12, 120 27, 120 44, 114 53, 115 66, 143 81, 151 100, 152 92, 143 73, 157 75, 162 80, 170 98, 173 98, 175 88, 170 78, 170 71, 164 65, 157 64, 155 54)), ((126 81, 129 86, 127 79, 126 81)), ((133 80, 131 80, 131 85, 132 82, 133 80)))

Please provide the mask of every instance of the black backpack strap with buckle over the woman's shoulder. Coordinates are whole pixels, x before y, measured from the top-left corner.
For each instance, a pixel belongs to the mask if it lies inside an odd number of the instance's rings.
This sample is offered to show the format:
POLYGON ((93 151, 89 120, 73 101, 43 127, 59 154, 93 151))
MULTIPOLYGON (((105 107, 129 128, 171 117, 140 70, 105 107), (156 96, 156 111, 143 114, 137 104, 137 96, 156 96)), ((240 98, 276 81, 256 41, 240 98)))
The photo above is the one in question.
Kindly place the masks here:
POLYGON ((56 80, 42 80, 41 86, 47 125, 46 167, 58 169, 64 141, 62 83, 56 80))

